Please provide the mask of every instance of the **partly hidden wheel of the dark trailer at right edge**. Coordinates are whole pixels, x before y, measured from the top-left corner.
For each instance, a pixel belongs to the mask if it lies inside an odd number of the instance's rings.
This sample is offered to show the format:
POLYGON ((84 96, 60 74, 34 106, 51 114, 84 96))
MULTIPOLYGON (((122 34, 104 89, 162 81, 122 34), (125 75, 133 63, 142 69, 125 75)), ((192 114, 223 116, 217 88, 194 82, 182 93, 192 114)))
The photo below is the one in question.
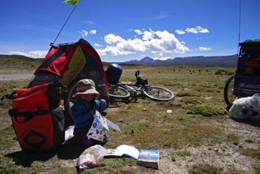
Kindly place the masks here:
POLYGON ((224 99, 228 107, 233 105, 233 101, 235 101, 236 96, 233 95, 233 87, 235 83, 235 75, 231 75, 228 80, 226 80, 226 84, 224 87, 224 99))

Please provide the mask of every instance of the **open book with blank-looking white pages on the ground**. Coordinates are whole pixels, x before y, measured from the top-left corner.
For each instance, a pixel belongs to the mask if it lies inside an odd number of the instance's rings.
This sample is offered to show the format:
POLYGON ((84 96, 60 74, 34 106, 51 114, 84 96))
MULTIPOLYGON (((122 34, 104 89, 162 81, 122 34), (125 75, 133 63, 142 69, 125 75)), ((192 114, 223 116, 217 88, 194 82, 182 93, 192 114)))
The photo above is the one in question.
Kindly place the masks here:
POLYGON ((129 158, 138 159, 139 151, 135 147, 129 145, 120 145, 117 149, 107 149, 104 158, 129 158))

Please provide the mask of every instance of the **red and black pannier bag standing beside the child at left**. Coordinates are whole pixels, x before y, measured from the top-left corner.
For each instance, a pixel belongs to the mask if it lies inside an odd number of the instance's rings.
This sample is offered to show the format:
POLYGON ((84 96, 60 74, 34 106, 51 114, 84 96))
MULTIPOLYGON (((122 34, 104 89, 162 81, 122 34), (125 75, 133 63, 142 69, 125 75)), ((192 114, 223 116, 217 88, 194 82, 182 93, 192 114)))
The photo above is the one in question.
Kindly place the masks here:
POLYGON ((11 99, 9 115, 22 150, 51 151, 64 142, 58 83, 20 89, 13 92, 11 99))

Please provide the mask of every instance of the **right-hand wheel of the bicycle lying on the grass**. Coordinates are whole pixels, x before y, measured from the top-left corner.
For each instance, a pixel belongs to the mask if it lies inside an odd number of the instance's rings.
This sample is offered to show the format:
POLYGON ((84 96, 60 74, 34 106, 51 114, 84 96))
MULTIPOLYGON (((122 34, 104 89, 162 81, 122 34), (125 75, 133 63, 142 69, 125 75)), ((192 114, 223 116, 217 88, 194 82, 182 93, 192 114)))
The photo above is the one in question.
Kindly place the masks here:
POLYGON ((143 90, 143 94, 155 101, 169 101, 174 99, 174 93, 164 87, 146 87, 146 89, 143 90))

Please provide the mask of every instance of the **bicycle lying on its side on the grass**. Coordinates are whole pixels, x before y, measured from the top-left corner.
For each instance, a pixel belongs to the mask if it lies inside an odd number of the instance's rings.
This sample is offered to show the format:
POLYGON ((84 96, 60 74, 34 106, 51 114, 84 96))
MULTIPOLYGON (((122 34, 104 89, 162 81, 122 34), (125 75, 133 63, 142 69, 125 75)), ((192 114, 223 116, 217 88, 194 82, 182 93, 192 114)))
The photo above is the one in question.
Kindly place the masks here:
POLYGON ((110 100, 123 99, 124 101, 130 101, 130 97, 135 101, 138 97, 148 97, 155 101, 169 101, 174 99, 174 93, 169 89, 148 85, 148 80, 143 75, 139 75, 139 73, 139 70, 135 73, 135 83, 118 82, 115 85, 110 85, 110 100))

